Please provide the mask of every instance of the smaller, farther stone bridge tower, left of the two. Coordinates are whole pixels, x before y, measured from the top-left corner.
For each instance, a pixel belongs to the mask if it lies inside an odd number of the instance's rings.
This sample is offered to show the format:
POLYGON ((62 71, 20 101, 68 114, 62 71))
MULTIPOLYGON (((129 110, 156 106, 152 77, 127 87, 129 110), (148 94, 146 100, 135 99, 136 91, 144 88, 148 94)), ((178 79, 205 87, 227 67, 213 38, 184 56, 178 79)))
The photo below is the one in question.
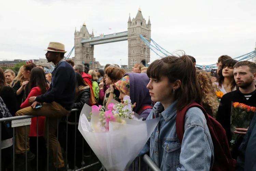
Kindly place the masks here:
POLYGON ((94 45, 90 45, 90 43, 81 43, 83 38, 94 37, 94 33, 91 34, 88 32, 86 25, 83 24, 80 31, 76 31, 74 33, 74 50, 75 64, 84 64, 88 66, 90 69, 98 68, 99 62, 95 62, 94 58, 94 45))

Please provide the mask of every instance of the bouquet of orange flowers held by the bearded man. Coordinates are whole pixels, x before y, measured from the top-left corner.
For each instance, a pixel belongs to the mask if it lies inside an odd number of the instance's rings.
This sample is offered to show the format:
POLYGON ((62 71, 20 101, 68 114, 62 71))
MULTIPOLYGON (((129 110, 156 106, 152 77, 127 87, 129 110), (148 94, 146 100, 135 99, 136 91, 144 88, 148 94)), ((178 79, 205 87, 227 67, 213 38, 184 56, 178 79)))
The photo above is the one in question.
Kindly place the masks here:
POLYGON ((237 140, 242 136, 241 134, 234 133, 236 128, 247 128, 252 119, 256 108, 242 103, 234 102, 232 104, 231 116, 230 116, 230 129, 232 140, 231 148, 236 144, 237 140))

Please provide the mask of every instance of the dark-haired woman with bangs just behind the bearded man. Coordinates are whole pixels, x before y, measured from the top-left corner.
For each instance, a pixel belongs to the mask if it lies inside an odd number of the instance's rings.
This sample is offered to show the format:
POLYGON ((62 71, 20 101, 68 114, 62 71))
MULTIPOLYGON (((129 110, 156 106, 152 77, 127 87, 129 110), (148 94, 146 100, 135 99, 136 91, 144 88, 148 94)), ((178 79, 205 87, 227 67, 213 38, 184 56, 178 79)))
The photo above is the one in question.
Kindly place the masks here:
POLYGON ((229 93, 231 91, 235 91, 236 81, 234 80, 233 75, 233 66, 237 63, 237 60, 227 59, 222 63, 222 67, 218 72, 218 80, 215 84, 215 88, 223 94, 229 93))

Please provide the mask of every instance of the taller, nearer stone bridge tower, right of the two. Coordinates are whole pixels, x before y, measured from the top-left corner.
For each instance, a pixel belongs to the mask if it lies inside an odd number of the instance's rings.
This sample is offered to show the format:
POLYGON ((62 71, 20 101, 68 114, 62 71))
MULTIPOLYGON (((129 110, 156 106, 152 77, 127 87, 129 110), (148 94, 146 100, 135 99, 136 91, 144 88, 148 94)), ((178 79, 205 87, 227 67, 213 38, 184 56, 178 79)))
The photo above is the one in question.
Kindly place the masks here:
POLYGON ((128 68, 136 63, 143 63, 146 66, 150 62, 150 48, 141 40, 140 34, 145 37, 148 42, 151 38, 151 22, 143 18, 141 9, 139 8, 135 18, 128 19, 128 68))

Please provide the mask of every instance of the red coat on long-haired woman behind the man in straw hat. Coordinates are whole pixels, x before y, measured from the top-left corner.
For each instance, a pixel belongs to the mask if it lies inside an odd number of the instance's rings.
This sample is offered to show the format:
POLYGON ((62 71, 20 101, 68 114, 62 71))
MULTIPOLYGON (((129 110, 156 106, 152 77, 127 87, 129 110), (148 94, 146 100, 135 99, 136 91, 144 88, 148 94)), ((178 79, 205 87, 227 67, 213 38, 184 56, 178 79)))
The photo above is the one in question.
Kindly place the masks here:
MULTIPOLYGON (((34 87, 33 89, 31 89, 31 91, 28 94, 28 97, 25 100, 25 102, 23 102, 20 105, 20 109, 23 109, 23 108, 31 106, 31 104, 29 104, 29 102, 28 102, 29 97, 39 96, 41 94, 42 94, 42 91, 41 91, 41 89, 39 87, 34 87)), ((44 116, 38 116, 38 136, 43 136, 44 135, 44 120, 45 120, 44 116)), ((29 134, 29 136, 30 137, 36 137, 37 136, 37 117, 31 118, 30 134, 29 134)))

